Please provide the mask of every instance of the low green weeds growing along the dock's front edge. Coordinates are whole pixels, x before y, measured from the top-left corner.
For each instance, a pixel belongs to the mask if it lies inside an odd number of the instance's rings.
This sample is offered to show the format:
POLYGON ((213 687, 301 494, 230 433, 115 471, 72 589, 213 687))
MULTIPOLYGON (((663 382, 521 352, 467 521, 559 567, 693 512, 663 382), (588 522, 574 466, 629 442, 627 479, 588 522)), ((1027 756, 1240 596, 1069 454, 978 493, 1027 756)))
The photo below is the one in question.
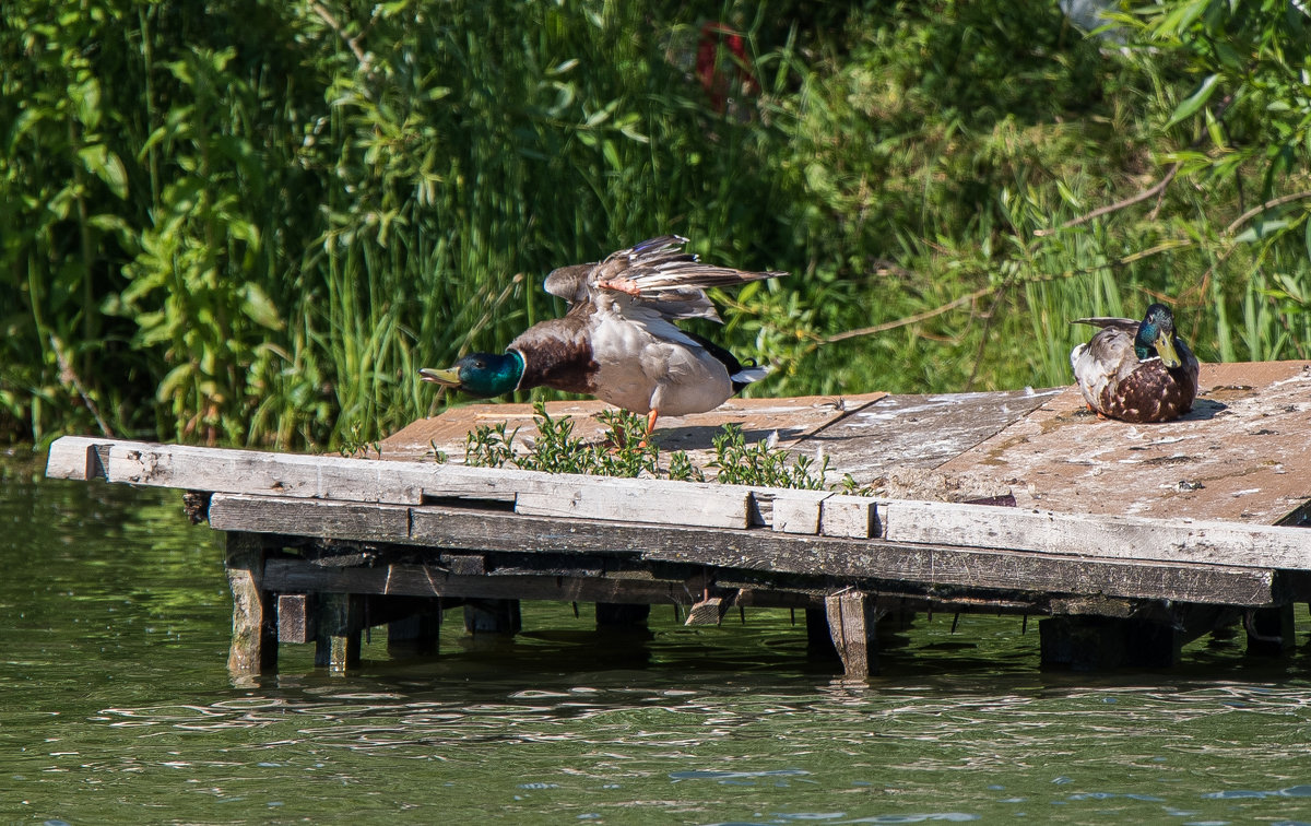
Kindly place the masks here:
MULTIPOLYGON (((553 418, 547 413, 545 404, 538 401, 532 406, 538 438, 530 443, 527 452, 514 451, 518 427, 507 431, 505 422, 480 425, 465 438, 464 463, 485 468, 509 465, 547 473, 705 481, 705 473, 683 450, 670 452, 667 467, 661 468, 659 447, 654 439, 644 439, 644 417, 628 410, 604 410, 597 418, 606 427, 604 437, 597 442, 587 441, 573 434, 573 418, 553 418)), ((825 488, 827 456, 815 467, 809 456, 793 456, 763 441, 747 444, 738 425, 724 425, 713 443, 714 458, 707 467, 717 471, 714 480, 721 484, 806 490, 825 488)))

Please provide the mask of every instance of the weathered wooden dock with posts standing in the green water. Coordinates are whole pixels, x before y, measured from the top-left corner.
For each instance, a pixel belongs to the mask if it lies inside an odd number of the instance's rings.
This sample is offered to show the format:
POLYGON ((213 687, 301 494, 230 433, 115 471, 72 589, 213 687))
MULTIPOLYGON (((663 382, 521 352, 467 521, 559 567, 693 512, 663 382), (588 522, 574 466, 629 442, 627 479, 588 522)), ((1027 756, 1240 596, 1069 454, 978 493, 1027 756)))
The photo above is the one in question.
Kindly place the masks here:
MULTIPOLYGON (((548 405, 581 435, 599 409, 548 405)), ((391 649, 433 654, 452 607, 469 631, 514 633, 522 599, 597 603, 600 625, 652 604, 690 624, 798 608, 812 646, 857 678, 877 670, 888 615, 1036 615, 1045 666, 1159 667, 1235 623, 1252 652, 1285 652, 1311 602, 1311 362, 1206 364, 1194 410, 1163 425, 1099 420, 1074 388, 732 400, 661 420, 665 451, 704 460, 737 422, 826 455, 830 481, 850 473, 872 497, 459 464, 465 434, 496 422, 534 430, 526 405, 455 408, 380 459, 66 437, 47 476, 187 492, 227 535, 236 675, 274 669, 279 644, 347 669, 383 624, 391 649)))

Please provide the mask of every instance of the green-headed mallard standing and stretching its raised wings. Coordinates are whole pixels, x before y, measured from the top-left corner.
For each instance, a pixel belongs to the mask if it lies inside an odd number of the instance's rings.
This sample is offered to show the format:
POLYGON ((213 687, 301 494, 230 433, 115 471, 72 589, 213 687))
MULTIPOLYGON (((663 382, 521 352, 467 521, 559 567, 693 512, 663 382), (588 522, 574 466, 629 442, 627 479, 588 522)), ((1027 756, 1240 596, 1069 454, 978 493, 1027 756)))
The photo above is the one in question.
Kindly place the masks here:
POLYGON ((686 243, 666 235, 611 253, 600 264, 552 271, 547 292, 569 302, 568 313, 534 324, 501 355, 472 353, 447 370, 420 370, 420 376, 482 397, 543 385, 597 396, 646 413, 648 435, 662 413, 683 416, 720 406, 767 371, 745 367, 674 320, 720 321, 705 287, 787 273, 701 264, 682 252, 686 243))

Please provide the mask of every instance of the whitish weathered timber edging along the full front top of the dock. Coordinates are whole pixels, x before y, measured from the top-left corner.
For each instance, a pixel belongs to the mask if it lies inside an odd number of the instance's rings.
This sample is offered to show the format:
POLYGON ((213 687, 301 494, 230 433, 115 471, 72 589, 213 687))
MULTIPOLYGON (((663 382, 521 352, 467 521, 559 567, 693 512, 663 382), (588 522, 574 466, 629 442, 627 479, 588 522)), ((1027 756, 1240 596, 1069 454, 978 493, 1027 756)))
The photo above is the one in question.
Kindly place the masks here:
POLYGON ((1311 570, 1311 531, 1227 522, 1168 522, 952 502, 885 501, 872 513, 851 497, 738 485, 602 479, 420 462, 303 456, 66 437, 47 472, 218 493, 417 505, 433 498, 510 502, 520 515, 628 524, 746 528, 758 514, 780 531, 874 535, 901 544, 1311 570), (108 450, 106 450, 108 446, 108 450), (81 459, 85 459, 79 464, 81 459), (81 468, 79 471, 79 467, 81 468), (813 502, 818 498, 819 502, 813 502), (831 503, 826 521, 823 506, 831 503), (780 519, 772 513, 777 510, 780 519), (855 523, 847 524, 848 519, 855 523))

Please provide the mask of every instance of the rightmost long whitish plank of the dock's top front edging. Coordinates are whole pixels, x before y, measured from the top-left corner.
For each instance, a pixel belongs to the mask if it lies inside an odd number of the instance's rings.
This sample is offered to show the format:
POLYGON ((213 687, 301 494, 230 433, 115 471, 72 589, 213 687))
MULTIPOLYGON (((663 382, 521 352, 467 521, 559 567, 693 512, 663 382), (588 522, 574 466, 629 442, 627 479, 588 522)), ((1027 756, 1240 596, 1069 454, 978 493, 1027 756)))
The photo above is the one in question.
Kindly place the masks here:
POLYGON ((889 541, 1055 551, 1078 556, 1311 568, 1311 531, 1294 527, 891 501, 881 506, 889 541))

